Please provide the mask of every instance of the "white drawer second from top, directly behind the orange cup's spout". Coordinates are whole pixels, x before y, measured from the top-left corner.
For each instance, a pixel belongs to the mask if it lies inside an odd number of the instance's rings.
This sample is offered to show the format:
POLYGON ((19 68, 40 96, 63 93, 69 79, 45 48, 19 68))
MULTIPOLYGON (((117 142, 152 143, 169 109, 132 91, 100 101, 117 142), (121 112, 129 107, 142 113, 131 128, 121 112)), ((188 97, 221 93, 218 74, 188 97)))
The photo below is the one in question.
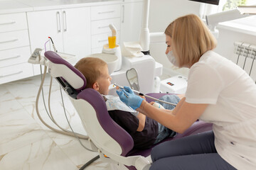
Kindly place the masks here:
POLYGON ((92 21, 92 35, 110 32, 111 23, 117 28, 117 30, 120 30, 120 18, 92 21))

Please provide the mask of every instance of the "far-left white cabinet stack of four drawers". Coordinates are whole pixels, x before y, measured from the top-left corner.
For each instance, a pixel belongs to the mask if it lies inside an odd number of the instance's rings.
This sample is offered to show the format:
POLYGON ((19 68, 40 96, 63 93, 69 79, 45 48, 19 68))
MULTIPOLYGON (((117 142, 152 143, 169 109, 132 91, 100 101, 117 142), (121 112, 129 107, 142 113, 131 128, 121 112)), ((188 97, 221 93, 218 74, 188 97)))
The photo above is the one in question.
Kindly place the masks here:
POLYGON ((33 76, 26 13, 0 15, 0 84, 33 76))

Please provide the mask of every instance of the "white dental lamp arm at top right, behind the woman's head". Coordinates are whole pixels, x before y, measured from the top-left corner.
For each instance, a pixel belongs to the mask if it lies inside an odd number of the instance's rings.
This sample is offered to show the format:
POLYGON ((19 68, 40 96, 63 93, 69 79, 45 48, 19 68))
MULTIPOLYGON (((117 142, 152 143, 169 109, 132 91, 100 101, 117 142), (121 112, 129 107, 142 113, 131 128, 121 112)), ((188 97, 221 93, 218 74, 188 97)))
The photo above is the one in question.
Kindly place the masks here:
POLYGON ((245 18, 247 16, 252 16, 253 14, 256 14, 256 6, 238 6, 230 11, 214 13, 206 16, 206 24, 213 32, 213 35, 215 35, 215 38, 218 38, 218 30, 216 30, 218 23, 245 18))

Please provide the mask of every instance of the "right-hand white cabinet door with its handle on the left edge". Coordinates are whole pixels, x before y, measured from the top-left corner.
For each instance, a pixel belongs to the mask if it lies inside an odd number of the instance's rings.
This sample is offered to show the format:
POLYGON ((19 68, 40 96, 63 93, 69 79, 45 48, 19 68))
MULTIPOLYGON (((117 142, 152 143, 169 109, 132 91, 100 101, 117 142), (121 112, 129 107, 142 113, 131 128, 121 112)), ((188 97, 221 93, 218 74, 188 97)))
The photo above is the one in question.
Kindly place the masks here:
POLYGON ((90 7, 63 9, 61 14, 64 52, 78 60, 90 55, 90 7))

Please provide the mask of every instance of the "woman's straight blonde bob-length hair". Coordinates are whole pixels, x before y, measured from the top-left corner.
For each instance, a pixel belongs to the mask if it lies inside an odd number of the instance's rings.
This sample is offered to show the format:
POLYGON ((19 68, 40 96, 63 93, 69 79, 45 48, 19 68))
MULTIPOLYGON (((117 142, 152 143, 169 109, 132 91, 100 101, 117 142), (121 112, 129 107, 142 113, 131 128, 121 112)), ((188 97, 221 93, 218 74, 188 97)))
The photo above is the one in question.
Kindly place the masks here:
POLYGON ((179 67, 193 65, 205 52, 213 50, 217 45, 210 30, 194 14, 177 18, 164 33, 171 37, 172 50, 179 67))

